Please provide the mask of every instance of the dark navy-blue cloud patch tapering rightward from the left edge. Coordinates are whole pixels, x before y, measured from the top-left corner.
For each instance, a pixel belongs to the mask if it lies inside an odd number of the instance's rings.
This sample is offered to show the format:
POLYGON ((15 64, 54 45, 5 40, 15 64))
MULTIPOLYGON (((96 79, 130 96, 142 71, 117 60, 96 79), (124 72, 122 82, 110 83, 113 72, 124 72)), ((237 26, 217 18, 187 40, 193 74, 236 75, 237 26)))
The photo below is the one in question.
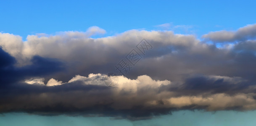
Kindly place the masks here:
POLYGON ((7 86, 28 77, 49 75, 64 70, 63 63, 60 61, 40 56, 34 56, 31 59, 32 64, 30 65, 16 67, 15 58, 6 53, 2 48, 0 48, 0 61, 1 86, 7 86))

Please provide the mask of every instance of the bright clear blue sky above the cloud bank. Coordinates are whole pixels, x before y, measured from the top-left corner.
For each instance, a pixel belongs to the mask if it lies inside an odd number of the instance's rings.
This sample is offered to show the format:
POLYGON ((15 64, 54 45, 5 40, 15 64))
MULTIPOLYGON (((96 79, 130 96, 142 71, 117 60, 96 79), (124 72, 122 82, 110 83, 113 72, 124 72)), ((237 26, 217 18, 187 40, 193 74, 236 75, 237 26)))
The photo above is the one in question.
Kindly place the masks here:
POLYGON ((105 36, 111 36, 130 29, 159 30, 156 25, 172 23, 192 26, 190 30, 201 37, 210 31, 236 30, 254 24, 255 3, 255 0, 1 0, 0 31, 26 40, 29 34, 86 31, 90 26, 99 26, 106 30, 105 36))

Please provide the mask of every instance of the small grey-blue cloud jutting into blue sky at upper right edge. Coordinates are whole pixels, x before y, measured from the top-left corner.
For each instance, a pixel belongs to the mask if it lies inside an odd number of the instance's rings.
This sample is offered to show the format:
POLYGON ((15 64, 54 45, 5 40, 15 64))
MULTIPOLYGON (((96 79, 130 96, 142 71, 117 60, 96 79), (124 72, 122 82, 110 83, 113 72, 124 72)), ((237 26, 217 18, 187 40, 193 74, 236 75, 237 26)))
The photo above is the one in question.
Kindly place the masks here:
POLYGON ((234 42, 253 39, 256 37, 256 24, 249 24, 239 28, 237 31, 217 31, 204 34, 203 39, 213 42, 234 42))

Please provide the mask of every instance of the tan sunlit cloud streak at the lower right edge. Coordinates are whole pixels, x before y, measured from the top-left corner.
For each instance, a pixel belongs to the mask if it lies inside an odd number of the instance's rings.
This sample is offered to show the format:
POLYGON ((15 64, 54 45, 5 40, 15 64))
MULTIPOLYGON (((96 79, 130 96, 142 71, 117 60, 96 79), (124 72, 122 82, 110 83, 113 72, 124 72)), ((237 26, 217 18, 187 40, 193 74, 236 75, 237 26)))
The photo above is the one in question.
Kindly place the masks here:
POLYGON ((182 96, 170 98, 167 100, 167 103, 169 103, 171 106, 173 105, 178 108, 195 105, 207 106, 207 110, 227 110, 234 108, 252 110, 256 108, 256 100, 253 98, 253 95, 238 94, 230 96, 221 93, 214 94, 208 97, 182 96))

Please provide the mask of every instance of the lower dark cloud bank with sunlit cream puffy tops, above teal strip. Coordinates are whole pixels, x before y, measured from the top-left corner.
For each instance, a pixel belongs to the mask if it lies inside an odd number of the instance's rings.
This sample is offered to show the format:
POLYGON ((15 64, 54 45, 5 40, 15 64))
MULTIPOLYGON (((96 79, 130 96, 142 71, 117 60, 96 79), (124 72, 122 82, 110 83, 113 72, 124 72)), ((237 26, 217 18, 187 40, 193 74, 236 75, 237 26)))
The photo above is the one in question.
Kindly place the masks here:
MULTIPOLYGON (((179 90, 182 85, 173 84, 168 80, 154 80, 147 75, 138 76, 137 79, 118 76, 117 86, 109 88, 104 85, 106 76, 105 74, 90 74, 88 77, 77 75, 62 84, 50 79, 48 84, 53 83, 54 86, 38 85, 37 82, 31 84, 26 81, 26 84, 21 84, 22 92, 17 92, 20 86, 14 86, 8 91, 13 95, 1 94, 3 100, 0 112, 23 111, 42 115, 62 113, 84 116, 103 114, 103 116, 137 120, 152 118, 152 114, 168 114, 179 109, 252 110, 256 108, 254 93, 229 95, 205 92, 186 95, 184 93, 187 92, 186 90, 183 92, 179 90), (161 90, 165 87, 177 90, 161 90), (31 93, 33 95, 29 95, 31 93)), ((224 79, 229 82, 237 79, 225 76, 208 78, 224 79)))

